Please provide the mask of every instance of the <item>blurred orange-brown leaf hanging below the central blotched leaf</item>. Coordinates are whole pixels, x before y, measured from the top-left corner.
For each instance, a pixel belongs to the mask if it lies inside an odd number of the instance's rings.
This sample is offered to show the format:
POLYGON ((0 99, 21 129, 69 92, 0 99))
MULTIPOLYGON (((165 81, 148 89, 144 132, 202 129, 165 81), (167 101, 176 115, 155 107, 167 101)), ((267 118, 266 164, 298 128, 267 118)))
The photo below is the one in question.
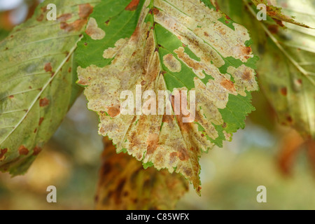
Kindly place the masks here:
POLYGON ((98 210, 169 210, 188 191, 188 182, 179 174, 143 169, 129 155, 115 153, 115 146, 104 138, 102 169, 96 196, 98 210))

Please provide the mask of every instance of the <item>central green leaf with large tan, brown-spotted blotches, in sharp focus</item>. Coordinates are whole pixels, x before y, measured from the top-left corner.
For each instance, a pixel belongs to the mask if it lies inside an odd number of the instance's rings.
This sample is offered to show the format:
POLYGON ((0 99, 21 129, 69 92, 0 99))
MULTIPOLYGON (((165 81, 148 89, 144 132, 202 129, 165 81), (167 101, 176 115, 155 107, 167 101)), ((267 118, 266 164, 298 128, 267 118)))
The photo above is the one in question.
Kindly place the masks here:
POLYGON ((253 111, 257 57, 246 29, 205 0, 102 1, 91 20, 106 35, 78 43, 78 83, 99 114, 99 134, 145 166, 183 174, 200 193, 200 155, 230 140, 253 111), (156 102, 159 90, 173 92, 164 104, 173 113, 121 114, 120 93, 136 85, 156 92, 156 102), (195 91, 190 123, 174 115, 176 90, 195 91))

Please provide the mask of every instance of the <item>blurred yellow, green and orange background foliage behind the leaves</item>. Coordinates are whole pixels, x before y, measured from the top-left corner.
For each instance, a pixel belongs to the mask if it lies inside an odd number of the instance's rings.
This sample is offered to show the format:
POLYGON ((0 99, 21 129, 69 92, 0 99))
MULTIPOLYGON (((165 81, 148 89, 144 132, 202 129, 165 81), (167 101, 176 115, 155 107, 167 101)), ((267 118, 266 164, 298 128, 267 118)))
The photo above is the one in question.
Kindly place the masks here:
MULTIPOLYGON (((27 20, 39 1, 0 0, 0 41, 27 20)), ((78 98, 54 137, 25 176, 0 174, 0 209, 93 209, 101 165, 98 118, 78 98), (46 188, 57 187, 57 203, 46 202, 46 188)), ((262 94, 256 111, 232 142, 200 160, 202 197, 190 187, 176 209, 315 209, 315 155, 290 128, 279 126, 262 94), (267 203, 256 188, 267 187, 267 203)))

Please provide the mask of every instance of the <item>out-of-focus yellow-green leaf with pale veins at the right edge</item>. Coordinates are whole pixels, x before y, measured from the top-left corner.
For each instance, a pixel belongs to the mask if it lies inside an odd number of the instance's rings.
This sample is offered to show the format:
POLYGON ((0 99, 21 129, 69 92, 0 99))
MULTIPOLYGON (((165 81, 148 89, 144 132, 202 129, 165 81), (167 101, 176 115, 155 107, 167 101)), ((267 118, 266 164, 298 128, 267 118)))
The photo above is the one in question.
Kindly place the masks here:
MULTIPOLYGON (((246 1, 218 1, 231 18, 245 25, 257 52, 260 86, 277 112, 279 123, 294 127, 304 138, 315 139, 315 31, 286 24, 277 29, 254 20, 255 11, 246 1), (244 3, 246 7, 244 8, 244 3)), ((315 25, 313 1, 281 1, 283 10, 295 12, 299 21, 315 25)))

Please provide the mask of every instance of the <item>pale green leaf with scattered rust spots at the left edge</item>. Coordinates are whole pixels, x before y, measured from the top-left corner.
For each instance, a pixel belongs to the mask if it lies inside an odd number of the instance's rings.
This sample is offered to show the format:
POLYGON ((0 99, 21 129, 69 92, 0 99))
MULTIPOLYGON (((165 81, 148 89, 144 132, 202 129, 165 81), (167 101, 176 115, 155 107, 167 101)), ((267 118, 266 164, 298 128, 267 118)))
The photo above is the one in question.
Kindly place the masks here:
POLYGON ((93 3, 48 1, 0 43, 0 169, 26 172, 78 96, 73 52, 93 3))

